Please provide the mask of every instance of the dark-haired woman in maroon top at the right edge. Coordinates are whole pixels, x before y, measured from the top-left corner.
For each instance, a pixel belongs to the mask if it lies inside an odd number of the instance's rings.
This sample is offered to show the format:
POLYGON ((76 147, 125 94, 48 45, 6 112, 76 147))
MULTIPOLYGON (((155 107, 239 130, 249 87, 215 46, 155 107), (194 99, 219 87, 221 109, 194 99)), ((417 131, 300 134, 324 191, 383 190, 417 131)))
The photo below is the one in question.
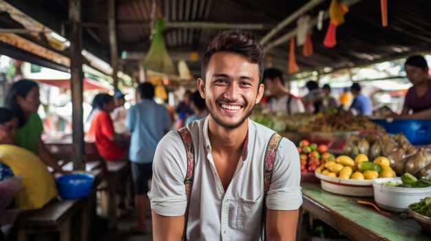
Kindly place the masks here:
POLYGON ((404 65, 407 78, 413 86, 408 89, 401 115, 392 113, 388 117, 397 119, 431 119, 431 80, 428 64, 423 56, 410 56, 404 65))

